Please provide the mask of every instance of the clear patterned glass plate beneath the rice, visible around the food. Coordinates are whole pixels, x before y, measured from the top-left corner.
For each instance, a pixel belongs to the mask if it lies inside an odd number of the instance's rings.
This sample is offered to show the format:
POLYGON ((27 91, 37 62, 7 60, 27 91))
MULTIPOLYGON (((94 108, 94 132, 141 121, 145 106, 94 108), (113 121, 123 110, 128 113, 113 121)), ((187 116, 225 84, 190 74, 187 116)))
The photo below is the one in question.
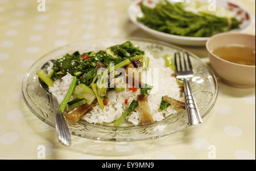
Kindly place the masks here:
MULTIPOLYGON (((79 52, 89 52, 106 49, 109 46, 131 41, 139 45, 140 49, 148 50, 154 57, 163 57, 165 54, 174 54, 183 49, 166 44, 164 42, 141 39, 141 38, 105 38, 75 42, 67 46, 58 48, 38 59, 24 75, 22 82, 22 93, 26 105, 48 125, 55 127, 55 114, 53 105, 48 95, 40 88, 35 73, 44 63, 50 59, 61 58, 64 54, 79 52)), ((191 80, 191 88, 195 95, 196 103, 199 107, 202 118, 204 118, 213 108, 217 99, 217 80, 213 71, 201 62, 195 54, 189 53, 193 65, 194 78, 191 80)), ((69 132, 73 135, 82 136, 89 139, 112 140, 112 141, 136 141, 159 138, 173 134, 188 127, 184 110, 172 114, 160 122, 143 126, 123 126, 112 127, 108 125, 94 125, 86 121, 77 123, 69 122, 69 132), (162 129, 159 129, 161 127, 162 129)))

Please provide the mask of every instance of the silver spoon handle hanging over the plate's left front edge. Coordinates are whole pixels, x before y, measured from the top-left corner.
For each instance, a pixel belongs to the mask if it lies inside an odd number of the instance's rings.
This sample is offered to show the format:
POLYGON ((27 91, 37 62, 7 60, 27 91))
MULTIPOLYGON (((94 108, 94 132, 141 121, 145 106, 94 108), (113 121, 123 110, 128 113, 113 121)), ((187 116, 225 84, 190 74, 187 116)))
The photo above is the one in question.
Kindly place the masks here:
POLYGON ((71 138, 68 131, 67 122, 61 112, 59 102, 55 96, 52 96, 53 107, 55 111, 55 127, 58 135, 58 139, 61 144, 65 146, 71 145, 71 138))

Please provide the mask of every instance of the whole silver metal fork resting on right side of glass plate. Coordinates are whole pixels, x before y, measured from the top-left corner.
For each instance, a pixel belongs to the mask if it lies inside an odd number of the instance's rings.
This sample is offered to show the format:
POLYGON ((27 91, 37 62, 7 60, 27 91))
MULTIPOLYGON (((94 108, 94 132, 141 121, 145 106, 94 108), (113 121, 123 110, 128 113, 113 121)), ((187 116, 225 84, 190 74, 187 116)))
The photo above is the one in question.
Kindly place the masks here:
POLYGON ((193 69, 188 52, 183 51, 182 58, 180 53, 176 52, 174 64, 176 67, 176 78, 183 81, 187 124, 192 126, 199 125, 203 121, 189 84, 189 80, 193 78, 193 69))

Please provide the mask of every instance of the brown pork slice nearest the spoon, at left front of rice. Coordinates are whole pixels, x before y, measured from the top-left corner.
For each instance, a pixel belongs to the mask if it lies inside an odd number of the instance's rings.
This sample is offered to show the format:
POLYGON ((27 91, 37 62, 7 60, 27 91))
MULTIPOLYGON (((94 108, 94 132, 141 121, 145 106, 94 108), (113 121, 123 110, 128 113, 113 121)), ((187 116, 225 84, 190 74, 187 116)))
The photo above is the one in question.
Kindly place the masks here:
POLYGON ((92 109, 93 108, 91 105, 88 105, 88 104, 80 105, 71 113, 67 113, 66 119, 69 119, 70 121, 73 121, 73 122, 77 122, 81 117, 85 116, 85 114, 90 112, 90 110, 92 109))

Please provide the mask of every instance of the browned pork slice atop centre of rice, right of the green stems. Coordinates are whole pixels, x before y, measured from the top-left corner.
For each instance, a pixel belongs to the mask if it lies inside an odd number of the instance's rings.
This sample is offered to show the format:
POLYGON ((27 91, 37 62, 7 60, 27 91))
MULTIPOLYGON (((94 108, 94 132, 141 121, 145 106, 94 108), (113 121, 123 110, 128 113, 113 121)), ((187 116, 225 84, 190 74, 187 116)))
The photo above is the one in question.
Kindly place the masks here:
MULTIPOLYGON (((130 63, 129 65, 126 66, 125 71, 126 71, 126 83, 129 83, 129 80, 133 80, 133 85, 130 85, 130 86, 141 87, 142 70, 135 69, 133 63, 130 63)), ((129 84, 131 84, 131 83, 129 83, 129 84)))

